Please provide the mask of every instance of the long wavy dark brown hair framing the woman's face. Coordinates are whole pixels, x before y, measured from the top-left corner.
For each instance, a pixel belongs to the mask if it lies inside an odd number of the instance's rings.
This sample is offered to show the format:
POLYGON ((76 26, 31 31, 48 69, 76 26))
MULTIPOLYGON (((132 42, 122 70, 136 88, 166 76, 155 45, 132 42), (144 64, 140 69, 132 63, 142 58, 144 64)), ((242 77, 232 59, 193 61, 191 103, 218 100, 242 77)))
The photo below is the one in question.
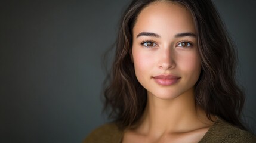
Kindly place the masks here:
MULTIPOLYGON (((211 114, 246 130, 240 115, 245 96, 235 81, 236 51, 218 11, 210 0, 170 0, 183 5, 193 16, 198 35, 201 74, 195 85, 195 102, 211 114)), ((154 0, 134 0, 125 11, 116 41, 115 58, 105 80, 105 109, 110 118, 125 129, 141 118, 146 107, 146 89, 135 77, 129 52, 132 29, 144 7, 154 0), (110 108, 109 108, 110 107, 110 108)))

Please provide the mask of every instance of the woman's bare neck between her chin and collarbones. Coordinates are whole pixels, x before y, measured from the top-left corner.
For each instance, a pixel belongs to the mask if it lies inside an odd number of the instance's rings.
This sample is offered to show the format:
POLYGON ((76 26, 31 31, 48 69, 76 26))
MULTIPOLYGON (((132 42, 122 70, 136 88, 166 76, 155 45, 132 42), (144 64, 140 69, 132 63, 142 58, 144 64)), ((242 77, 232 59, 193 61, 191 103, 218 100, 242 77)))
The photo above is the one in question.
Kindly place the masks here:
POLYGON ((150 93, 147 99, 143 117, 136 128, 143 135, 184 133, 212 123, 205 111, 195 104, 193 89, 171 100, 163 100, 150 93))

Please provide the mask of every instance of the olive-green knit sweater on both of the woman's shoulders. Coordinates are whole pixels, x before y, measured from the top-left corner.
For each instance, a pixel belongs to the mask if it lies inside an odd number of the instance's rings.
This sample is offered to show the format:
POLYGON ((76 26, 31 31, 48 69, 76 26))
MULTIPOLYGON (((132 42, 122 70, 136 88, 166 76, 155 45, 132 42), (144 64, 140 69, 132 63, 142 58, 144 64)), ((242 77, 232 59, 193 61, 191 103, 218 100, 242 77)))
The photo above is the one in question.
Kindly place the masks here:
MULTIPOLYGON (((123 135, 124 132, 118 130, 118 127, 114 123, 109 123, 95 129, 85 138, 84 143, 121 143, 123 135)), ((209 128, 201 141, 199 141, 199 143, 211 142, 256 143, 256 136, 218 119, 217 122, 209 128)))

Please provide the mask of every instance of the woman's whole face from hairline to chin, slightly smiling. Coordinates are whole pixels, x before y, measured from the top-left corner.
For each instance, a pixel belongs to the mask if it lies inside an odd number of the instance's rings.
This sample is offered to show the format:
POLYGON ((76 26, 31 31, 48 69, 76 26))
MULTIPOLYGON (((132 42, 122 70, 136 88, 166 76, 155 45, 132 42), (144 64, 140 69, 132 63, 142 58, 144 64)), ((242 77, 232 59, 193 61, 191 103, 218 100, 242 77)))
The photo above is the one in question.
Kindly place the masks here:
POLYGON ((133 29, 131 57, 148 95, 172 99, 193 93, 201 63, 189 10, 171 2, 144 8, 133 29))

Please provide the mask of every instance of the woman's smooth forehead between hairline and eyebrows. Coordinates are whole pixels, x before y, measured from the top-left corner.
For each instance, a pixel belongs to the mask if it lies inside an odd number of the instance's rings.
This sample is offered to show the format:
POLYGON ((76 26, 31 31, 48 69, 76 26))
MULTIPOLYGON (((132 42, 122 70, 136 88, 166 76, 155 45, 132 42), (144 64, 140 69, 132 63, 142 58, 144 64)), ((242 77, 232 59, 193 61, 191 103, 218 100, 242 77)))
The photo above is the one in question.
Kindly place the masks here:
POLYGON ((196 33, 192 14, 183 5, 174 2, 153 2, 141 10, 133 28, 140 32, 153 32, 159 35, 176 33, 196 33))

